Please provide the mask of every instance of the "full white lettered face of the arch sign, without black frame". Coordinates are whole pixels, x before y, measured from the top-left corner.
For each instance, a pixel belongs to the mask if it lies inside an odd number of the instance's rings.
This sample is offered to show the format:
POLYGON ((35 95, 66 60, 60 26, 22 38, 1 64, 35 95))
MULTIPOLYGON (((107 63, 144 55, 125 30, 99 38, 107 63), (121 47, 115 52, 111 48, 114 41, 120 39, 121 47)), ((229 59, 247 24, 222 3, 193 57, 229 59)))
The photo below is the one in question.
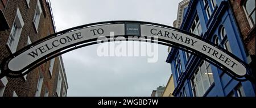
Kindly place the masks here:
POLYGON ((70 48, 71 45, 90 39, 97 40, 100 36, 110 36, 110 32, 114 32, 115 36, 134 35, 157 37, 158 39, 170 41, 170 43, 185 45, 188 48, 200 52, 205 57, 216 60, 217 64, 224 65, 238 76, 244 76, 246 74, 245 65, 203 40, 168 28, 139 23, 105 24, 81 28, 80 30, 56 36, 20 53, 10 60, 8 68, 14 72, 20 71, 28 65, 35 63, 36 60, 42 59, 59 49, 64 47, 70 48))

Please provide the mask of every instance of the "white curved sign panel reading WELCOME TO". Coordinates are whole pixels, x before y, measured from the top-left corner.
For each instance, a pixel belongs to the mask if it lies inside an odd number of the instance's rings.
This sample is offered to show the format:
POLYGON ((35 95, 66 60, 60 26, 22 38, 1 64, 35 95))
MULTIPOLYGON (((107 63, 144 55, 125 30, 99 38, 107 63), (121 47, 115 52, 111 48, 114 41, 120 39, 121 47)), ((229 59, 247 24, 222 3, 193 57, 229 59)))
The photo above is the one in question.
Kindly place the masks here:
POLYGON ((79 43, 89 39, 97 39, 100 36, 109 36, 110 32, 115 35, 125 35, 125 24, 108 24, 103 26, 95 26, 83 28, 81 30, 71 31, 55 38, 40 43, 20 55, 10 60, 8 67, 10 70, 19 71, 27 67, 34 61, 43 56, 48 55, 57 49, 79 43))

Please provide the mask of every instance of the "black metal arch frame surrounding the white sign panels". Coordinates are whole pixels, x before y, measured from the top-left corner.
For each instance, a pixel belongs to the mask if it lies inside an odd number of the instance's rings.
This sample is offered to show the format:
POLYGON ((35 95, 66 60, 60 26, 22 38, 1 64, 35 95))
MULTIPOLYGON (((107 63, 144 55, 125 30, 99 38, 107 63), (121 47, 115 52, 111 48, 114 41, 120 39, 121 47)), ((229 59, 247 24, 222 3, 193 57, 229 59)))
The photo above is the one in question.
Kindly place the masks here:
MULTIPOLYGON (((192 34, 190 32, 184 31, 184 30, 180 30, 178 28, 174 28, 174 27, 171 27, 171 26, 166 26, 164 24, 151 23, 151 22, 141 22, 141 21, 133 21, 133 20, 117 20, 117 21, 90 23, 90 24, 85 24, 85 25, 82 25, 82 26, 77 26, 77 27, 69 28, 67 30, 63 30, 63 31, 57 32, 56 34, 51 34, 49 36, 46 36, 45 38, 40 39, 38 41, 35 41, 34 43, 32 43, 30 45, 27 45, 26 47, 20 49, 19 51, 15 52, 13 55, 10 55, 9 57, 6 57, 2 61, 2 63, 1 63, 1 67, 0 68, 1 68, 2 72, 0 74, 0 79, 2 77, 5 77, 5 76, 7 76, 7 77, 14 77, 14 78, 15 77, 22 77, 25 74, 29 73, 32 69, 35 69, 39 65, 41 65, 43 63, 46 63, 46 61, 49 61, 49 60, 53 59, 54 57, 57 57, 59 55, 62 55, 63 53, 72 51, 72 50, 77 49, 77 48, 81 48, 81 47, 85 47, 85 46, 88 46, 88 45, 97 44, 99 40, 96 40, 96 39, 85 40, 85 41, 81 41, 79 43, 71 44, 71 45, 68 45, 66 47, 60 48, 60 49, 58 49, 58 50, 56 50, 56 51, 54 51, 52 53, 49 53, 46 56, 41 57, 40 59, 34 61, 32 64, 28 65, 24 69, 22 69, 20 71, 17 71, 17 72, 14 72, 14 71, 10 70, 9 68, 7 68, 7 63, 9 63, 9 61, 11 59, 13 59, 15 56, 18 56, 20 53, 22 53, 22 52, 32 48, 35 45, 38 45, 38 44, 42 43, 43 41, 55 38, 55 37, 57 37, 59 35, 66 34, 68 32, 81 30, 83 28, 101 26, 101 25, 106 25, 106 24, 125 24, 125 23, 138 23, 138 24, 145 24, 145 25, 150 25, 150 26, 155 26, 155 27, 167 28, 167 29, 171 29, 171 30, 174 30, 174 31, 177 31, 177 32, 181 32, 183 34, 187 34, 187 35, 193 36, 193 38, 203 40, 206 43, 209 43, 209 44, 213 45, 214 47, 220 49, 221 51, 225 52, 229 56, 233 57, 233 59, 236 59, 238 62, 243 64, 246 67, 246 70, 247 70, 246 75, 245 76, 238 76, 237 74, 232 72, 232 70, 226 68, 222 64, 217 64, 216 60, 211 59, 210 57, 205 56, 203 53, 201 53, 199 51, 196 51, 195 49, 186 47, 185 45, 182 45, 182 44, 176 44, 176 43, 174 43, 172 41, 168 41, 168 40, 164 40, 164 39, 154 40, 151 37, 152 43, 153 42, 158 42, 158 44, 167 45, 167 46, 170 46, 170 47, 175 47, 175 48, 181 49, 183 51, 192 53, 193 55, 199 56, 202 59, 208 61, 209 63, 215 65, 216 67, 224 70, 224 72, 229 74, 230 77, 232 77, 232 78, 234 78, 234 79, 236 79, 238 81, 247 81, 247 80, 255 81, 254 77, 251 75, 251 69, 249 68, 248 64, 246 64, 244 61, 242 61, 241 59, 239 59, 237 56, 233 55, 232 53, 226 51, 224 48, 221 48, 218 45, 212 43, 212 41, 206 40, 204 38, 201 38, 200 36, 197 36, 195 34, 192 34), (24 71, 26 71, 26 72, 24 72, 24 71)), ((123 35, 123 37, 125 37, 126 40, 129 39, 129 37, 133 37, 133 36, 135 36, 135 35, 123 35)), ((114 39, 116 39, 117 37, 118 36, 114 36, 114 39)), ((110 36, 106 36, 106 38, 108 39, 108 41, 113 41, 113 39, 112 39, 113 37, 110 38, 110 36)), ((133 40, 134 41, 142 41, 142 39, 133 39, 133 40)), ((100 40, 100 41, 102 41, 102 40, 100 40)))

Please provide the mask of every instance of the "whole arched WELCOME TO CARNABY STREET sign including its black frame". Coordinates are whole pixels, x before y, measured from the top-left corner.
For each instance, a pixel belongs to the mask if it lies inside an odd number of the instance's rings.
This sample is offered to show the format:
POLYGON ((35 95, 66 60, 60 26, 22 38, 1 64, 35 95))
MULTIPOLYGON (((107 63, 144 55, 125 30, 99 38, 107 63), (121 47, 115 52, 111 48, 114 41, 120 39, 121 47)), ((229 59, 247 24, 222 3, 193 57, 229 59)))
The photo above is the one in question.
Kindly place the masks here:
MULTIPOLYGON (((110 21, 70 28, 20 49, 1 63, 1 76, 22 76, 53 57, 86 45, 97 44, 97 41, 117 39, 118 36, 125 39, 144 36, 153 42, 183 49, 203 57, 235 77, 243 77, 250 71, 247 64, 232 53, 189 32, 150 22, 110 21), (110 32, 114 32, 113 37, 110 32)), ((135 40, 139 41, 141 38, 135 40)))

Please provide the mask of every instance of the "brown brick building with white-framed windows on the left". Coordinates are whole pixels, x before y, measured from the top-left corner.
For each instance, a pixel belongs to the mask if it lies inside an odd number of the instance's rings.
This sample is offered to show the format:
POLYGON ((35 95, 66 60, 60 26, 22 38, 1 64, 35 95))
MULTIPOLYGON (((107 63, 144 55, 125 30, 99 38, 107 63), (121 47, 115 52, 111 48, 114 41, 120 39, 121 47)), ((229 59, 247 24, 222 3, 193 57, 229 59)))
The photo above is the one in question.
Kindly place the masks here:
MULTIPOLYGON (((51 5, 46 0, 0 1, 0 62, 28 44, 56 32, 51 5)), ((1 72, 1 71, 0 71, 1 72)), ((0 96, 66 96, 67 77, 61 56, 21 78, 4 77, 0 96)))

